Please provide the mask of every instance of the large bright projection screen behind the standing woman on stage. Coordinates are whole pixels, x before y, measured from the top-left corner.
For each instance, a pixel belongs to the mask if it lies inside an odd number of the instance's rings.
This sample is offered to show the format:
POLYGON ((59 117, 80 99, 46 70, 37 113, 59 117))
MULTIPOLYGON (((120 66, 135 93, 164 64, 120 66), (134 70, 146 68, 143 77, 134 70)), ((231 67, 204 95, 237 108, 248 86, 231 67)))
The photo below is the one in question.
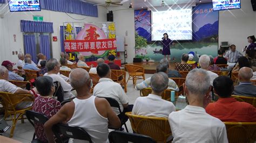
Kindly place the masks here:
POLYGON ((192 8, 152 11, 152 41, 161 40, 164 33, 172 40, 192 40, 192 8))

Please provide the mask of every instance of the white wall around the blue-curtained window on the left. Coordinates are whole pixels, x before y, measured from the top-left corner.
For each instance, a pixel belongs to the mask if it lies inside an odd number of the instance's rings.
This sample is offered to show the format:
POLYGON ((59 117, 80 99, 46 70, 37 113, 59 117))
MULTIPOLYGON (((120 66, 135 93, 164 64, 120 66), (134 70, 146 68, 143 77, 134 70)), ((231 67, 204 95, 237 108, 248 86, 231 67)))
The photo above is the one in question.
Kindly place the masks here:
MULTIPOLYGON (((53 58, 59 59, 60 53, 60 35, 59 26, 63 25, 63 22, 106 22, 107 10, 102 6, 98 6, 98 17, 88 17, 82 15, 75 15, 68 13, 73 18, 84 19, 75 20, 67 16, 64 12, 55 12, 49 10, 42 10, 39 12, 10 12, 8 5, 5 9, 4 6, 0 7, 0 13, 5 13, 4 18, 0 17, 0 49, 1 49, 1 62, 3 60, 10 60, 16 62, 18 60, 17 55, 12 55, 12 51, 21 51, 24 53, 23 47, 23 34, 21 32, 20 21, 21 20, 33 20, 33 15, 40 15, 44 17, 44 22, 53 23, 52 36, 57 36, 58 41, 52 42, 53 58), (16 42, 14 42, 14 34, 16 34, 16 42)), ((52 39, 52 38, 51 38, 52 39)))

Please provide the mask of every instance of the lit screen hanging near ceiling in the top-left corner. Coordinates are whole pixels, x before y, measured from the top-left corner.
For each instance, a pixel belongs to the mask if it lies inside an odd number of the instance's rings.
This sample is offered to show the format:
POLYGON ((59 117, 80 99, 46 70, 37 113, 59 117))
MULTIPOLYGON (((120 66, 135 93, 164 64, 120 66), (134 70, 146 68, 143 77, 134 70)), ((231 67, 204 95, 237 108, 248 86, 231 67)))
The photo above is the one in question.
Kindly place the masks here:
POLYGON ((39 0, 8 0, 11 12, 15 11, 41 11, 39 0))

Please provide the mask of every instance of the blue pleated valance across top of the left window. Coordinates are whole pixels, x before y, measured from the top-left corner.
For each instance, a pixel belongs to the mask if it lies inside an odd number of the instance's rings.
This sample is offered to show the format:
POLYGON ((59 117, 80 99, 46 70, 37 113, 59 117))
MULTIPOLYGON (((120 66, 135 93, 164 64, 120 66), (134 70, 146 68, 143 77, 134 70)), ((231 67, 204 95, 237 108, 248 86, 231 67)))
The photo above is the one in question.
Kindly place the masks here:
POLYGON ((21 20, 22 32, 53 33, 53 23, 21 20))

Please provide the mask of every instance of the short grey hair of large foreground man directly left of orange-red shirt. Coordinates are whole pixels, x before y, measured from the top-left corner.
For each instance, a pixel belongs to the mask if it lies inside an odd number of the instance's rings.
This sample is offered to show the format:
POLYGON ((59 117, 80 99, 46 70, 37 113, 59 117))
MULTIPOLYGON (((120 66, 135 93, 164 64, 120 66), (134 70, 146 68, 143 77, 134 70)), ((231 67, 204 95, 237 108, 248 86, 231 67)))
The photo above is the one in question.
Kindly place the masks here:
POLYGON ((187 74, 185 84, 190 94, 202 96, 211 86, 211 77, 204 69, 193 69, 187 74))

